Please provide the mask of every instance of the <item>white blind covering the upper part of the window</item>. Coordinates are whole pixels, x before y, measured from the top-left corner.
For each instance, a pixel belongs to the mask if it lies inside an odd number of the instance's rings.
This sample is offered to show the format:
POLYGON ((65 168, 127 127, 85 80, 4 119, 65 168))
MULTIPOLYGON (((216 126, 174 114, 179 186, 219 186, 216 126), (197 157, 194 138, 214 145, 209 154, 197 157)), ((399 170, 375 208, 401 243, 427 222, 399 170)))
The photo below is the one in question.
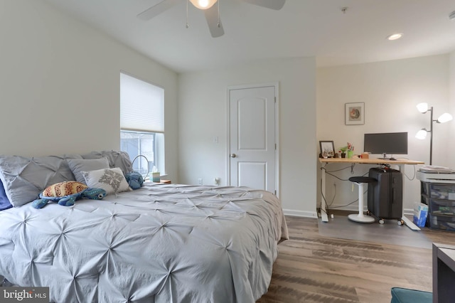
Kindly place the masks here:
POLYGON ((164 90, 120 73, 120 128, 164 132, 164 90))

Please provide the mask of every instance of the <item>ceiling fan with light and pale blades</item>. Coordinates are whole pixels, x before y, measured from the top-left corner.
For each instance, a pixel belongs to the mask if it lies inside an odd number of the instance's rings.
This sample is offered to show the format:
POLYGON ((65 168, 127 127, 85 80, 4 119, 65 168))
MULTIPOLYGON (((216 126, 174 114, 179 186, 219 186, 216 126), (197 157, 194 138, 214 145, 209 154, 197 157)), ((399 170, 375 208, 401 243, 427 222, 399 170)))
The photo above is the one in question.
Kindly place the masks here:
MULTIPOLYGON (((163 13, 164 11, 171 9, 172 6, 178 4, 182 0, 163 0, 154 6, 151 6, 149 9, 141 12, 137 15, 138 18, 142 20, 150 20, 155 16, 163 13)), ((189 0, 191 4, 196 6, 198 9, 204 11, 205 20, 207 20, 208 29, 213 38, 223 36, 225 31, 223 30, 223 25, 220 21, 220 11, 219 11, 219 2, 220 0, 189 0), (214 4, 218 2, 218 6, 214 4)), ((244 2, 255 4, 257 6, 262 6, 267 9, 279 10, 284 6, 286 0, 242 0, 244 2)), ((188 26, 188 24, 187 24, 188 26)))

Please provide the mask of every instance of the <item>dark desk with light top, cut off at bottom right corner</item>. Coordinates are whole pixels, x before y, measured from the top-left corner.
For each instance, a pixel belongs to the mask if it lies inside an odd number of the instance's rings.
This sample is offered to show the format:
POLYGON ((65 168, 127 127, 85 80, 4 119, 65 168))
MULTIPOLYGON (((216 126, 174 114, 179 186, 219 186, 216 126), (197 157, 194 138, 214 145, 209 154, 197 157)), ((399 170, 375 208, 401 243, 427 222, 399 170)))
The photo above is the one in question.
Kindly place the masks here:
POLYGON ((454 302, 455 246, 433 243, 433 302, 454 302))

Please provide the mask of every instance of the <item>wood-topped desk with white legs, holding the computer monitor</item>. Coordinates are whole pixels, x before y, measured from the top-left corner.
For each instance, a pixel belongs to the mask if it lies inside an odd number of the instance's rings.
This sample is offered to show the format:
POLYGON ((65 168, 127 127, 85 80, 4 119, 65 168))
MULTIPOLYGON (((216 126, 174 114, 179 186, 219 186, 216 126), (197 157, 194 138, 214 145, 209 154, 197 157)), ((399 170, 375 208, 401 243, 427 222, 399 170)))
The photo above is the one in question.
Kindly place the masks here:
MULTIPOLYGON (((348 158, 319 158, 319 162, 323 164, 323 173, 321 174, 321 218, 323 222, 328 222, 328 216, 326 213, 326 203, 324 203, 324 196, 326 196, 326 169, 325 167, 331 163, 341 163, 341 164, 390 164, 390 165, 397 165, 399 170, 402 171, 405 165, 417 165, 417 164, 425 164, 422 161, 414 161, 408 159, 397 159, 397 160, 388 160, 388 159, 377 159, 377 158, 370 158, 370 159, 348 159, 348 158)), ((403 186, 405 184, 405 174, 403 174, 403 186)), ((402 216, 402 220, 405 224, 410 227, 412 230, 420 230, 411 220, 402 216)))

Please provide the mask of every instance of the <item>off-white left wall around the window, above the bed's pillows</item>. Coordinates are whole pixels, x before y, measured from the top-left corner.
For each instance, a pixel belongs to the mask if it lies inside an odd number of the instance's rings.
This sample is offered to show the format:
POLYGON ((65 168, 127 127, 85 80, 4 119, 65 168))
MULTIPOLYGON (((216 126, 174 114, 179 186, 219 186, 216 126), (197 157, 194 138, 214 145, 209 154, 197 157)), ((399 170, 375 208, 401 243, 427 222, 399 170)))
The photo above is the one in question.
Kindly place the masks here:
POLYGON ((178 166, 177 74, 42 1, 0 1, 0 154, 119 149, 119 73, 165 89, 166 170, 178 166))

